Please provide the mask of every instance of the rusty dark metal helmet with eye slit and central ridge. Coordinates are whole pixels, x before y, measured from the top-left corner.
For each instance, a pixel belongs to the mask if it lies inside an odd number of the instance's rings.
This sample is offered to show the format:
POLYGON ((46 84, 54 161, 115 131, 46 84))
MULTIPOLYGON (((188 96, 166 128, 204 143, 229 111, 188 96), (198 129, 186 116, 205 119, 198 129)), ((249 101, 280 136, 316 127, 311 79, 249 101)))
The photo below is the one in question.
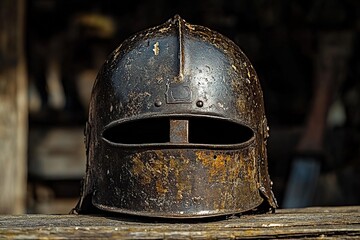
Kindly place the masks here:
POLYGON ((267 138, 248 58, 176 15, 125 40, 100 70, 73 211, 196 218, 273 210, 267 138))

